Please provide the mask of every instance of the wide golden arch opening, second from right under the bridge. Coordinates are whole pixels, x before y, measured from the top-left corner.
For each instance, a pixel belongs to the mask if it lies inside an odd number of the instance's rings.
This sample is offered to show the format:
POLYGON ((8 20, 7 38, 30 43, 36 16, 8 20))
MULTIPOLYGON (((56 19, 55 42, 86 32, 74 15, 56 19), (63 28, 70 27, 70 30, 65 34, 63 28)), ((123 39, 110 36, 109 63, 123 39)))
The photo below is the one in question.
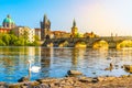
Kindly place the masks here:
POLYGON ((103 50, 108 50, 109 48, 109 44, 106 41, 98 41, 95 42, 92 45, 92 48, 103 48, 103 50))

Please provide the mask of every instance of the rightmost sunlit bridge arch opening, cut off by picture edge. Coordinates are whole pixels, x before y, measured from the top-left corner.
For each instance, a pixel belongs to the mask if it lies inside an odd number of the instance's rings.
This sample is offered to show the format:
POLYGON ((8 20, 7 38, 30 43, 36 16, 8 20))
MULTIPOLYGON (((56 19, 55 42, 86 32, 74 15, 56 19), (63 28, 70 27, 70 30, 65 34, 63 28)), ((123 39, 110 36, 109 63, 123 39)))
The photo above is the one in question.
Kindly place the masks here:
POLYGON ((132 47, 132 41, 125 40, 117 44, 117 48, 130 48, 132 47))

